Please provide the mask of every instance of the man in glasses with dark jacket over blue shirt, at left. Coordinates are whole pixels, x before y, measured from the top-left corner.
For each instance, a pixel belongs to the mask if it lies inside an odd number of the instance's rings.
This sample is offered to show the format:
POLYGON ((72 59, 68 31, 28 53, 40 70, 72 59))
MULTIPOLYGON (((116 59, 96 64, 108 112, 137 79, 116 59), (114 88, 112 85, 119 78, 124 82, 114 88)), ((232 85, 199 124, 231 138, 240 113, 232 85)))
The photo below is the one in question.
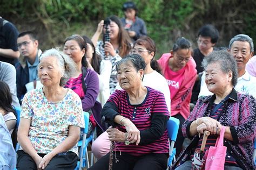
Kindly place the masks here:
POLYGON ((17 71, 17 96, 19 102, 25 93, 31 89, 38 87, 39 81, 37 76, 37 66, 39 56, 42 54, 41 49, 38 49, 38 40, 35 33, 31 31, 22 32, 18 35, 17 45, 21 58, 15 65, 17 71))

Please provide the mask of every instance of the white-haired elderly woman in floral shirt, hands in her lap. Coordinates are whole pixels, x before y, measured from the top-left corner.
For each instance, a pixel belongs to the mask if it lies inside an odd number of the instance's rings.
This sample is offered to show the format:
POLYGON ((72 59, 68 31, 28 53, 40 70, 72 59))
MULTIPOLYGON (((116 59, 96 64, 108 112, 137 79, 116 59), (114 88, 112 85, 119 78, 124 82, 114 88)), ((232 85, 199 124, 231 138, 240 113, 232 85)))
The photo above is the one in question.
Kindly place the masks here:
POLYGON ((49 49, 41 55, 38 77, 43 88, 23 98, 18 129, 17 169, 72 169, 84 126, 79 96, 62 86, 76 70, 68 55, 49 49))

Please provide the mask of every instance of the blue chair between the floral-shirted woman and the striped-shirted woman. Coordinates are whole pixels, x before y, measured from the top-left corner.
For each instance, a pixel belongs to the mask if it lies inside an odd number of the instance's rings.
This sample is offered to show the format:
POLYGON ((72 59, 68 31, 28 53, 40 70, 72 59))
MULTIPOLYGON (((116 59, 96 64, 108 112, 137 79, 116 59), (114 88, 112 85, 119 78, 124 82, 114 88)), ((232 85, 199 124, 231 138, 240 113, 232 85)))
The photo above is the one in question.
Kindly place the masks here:
POLYGON ((77 169, 82 169, 83 167, 89 168, 89 157, 88 157, 88 152, 87 152, 87 145, 90 143, 92 140, 92 135, 86 139, 87 133, 88 133, 88 128, 89 128, 89 113, 84 112, 84 123, 85 126, 84 128, 81 129, 83 132, 83 140, 78 141, 78 146, 80 147, 80 152, 79 152, 79 161, 77 162, 77 169))

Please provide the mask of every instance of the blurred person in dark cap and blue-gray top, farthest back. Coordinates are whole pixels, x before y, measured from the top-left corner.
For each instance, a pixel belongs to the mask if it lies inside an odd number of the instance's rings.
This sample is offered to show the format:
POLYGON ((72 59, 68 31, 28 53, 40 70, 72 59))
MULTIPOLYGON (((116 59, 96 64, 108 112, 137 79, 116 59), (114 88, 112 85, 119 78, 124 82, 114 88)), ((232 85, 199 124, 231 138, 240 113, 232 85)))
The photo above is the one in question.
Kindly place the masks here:
POLYGON ((121 21, 130 38, 136 41, 140 37, 146 36, 146 24, 143 19, 137 17, 138 9, 136 5, 133 2, 125 2, 123 11, 125 17, 121 21))

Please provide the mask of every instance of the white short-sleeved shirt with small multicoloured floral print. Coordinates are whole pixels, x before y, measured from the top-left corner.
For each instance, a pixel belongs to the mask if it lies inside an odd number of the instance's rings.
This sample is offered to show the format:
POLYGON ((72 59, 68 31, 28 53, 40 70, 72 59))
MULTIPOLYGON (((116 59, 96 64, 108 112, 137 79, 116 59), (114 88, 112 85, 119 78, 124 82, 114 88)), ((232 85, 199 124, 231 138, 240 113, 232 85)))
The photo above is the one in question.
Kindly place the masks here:
MULTIPOLYGON (((29 91, 23 98, 21 117, 31 121, 29 139, 37 153, 50 153, 62 143, 69 125, 84 127, 81 100, 71 89, 57 103, 46 99, 43 88, 29 91)), ((69 151, 78 154, 77 144, 69 151)))

